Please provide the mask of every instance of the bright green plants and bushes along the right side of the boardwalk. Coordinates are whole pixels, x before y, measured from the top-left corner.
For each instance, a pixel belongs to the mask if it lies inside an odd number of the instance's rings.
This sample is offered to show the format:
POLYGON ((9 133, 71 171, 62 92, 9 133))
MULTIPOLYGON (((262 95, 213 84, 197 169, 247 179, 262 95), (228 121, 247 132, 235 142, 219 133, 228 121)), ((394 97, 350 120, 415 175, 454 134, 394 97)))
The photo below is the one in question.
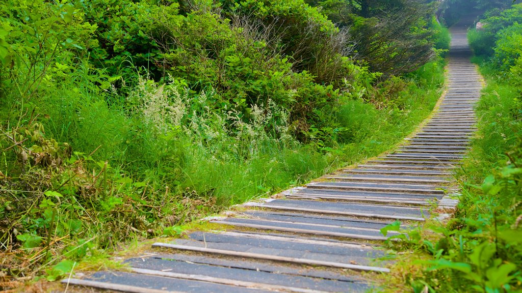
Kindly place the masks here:
MULTIPOLYGON (((478 135, 457 171, 462 196, 447 225, 411 232, 414 261, 398 265, 402 290, 522 290, 522 4, 488 10, 469 40, 486 86, 478 135)), ((402 248, 405 248, 402 247, 402 248)))

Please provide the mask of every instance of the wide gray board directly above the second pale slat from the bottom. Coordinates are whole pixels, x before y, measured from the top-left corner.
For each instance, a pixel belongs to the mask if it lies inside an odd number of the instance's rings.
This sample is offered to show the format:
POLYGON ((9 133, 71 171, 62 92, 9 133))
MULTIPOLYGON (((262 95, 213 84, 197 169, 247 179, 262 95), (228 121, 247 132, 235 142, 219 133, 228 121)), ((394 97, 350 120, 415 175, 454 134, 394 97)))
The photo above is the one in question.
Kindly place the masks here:
POLYGON ((279 274, 276 272, 263 272, 256 270, 245 270, 244 268, 224 267, 208 264, 188 263, 161 258, 133 258, 125 261, 126 264, 137 268, 147 268, 162 272, 180 274, 205 275, 217 278, 240 280, 260 284, 279 285, 295 288, 315 289, 321 291, 338 292, 347 288, 361 291, 367 285, 340 280, 329 280, 299 275, 279 274))

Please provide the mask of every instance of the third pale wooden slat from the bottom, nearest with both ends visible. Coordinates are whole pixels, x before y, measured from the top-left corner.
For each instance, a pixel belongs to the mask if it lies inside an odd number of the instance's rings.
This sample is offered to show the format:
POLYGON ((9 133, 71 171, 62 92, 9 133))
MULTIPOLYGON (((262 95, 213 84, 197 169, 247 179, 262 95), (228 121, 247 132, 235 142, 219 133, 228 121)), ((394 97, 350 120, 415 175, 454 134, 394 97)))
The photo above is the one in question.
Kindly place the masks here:
POLYGON ((300 259, 300 258, 289 258, 289 257, 280 257, 278 255, 268 255, 268 254, 240 252, 240 251, 231 251, 231 250, 222 250, 222 249, 211 249, 211 248, 203 248, 203 247, 192 247, 192 246, 184 246, 184 245, 175 245, 175 244, 171 244, 171 243, 156 242, 152 246, 153 247, 172 248, 172 249, 177 249, 177 250, 187 250, 187 251, 197 251, 197 252, 204 252, 204 253, 230 255, 232 257, 239 257, 239 258, 251 258, 251 259, 261 259, 261 260, 270 260, 270 261, 278 261, 278 262, 304 264, 304 265, 317 265, 317 266, 347 268, 348 270, 355 270, 355 271, 370 271, 370 272, 381 272, 381 273, 390 272, 389 268, 378 267, 378 266, 367 266, 367 265, 326 262, 326 261, 317 261, 317 260, 300 259))

